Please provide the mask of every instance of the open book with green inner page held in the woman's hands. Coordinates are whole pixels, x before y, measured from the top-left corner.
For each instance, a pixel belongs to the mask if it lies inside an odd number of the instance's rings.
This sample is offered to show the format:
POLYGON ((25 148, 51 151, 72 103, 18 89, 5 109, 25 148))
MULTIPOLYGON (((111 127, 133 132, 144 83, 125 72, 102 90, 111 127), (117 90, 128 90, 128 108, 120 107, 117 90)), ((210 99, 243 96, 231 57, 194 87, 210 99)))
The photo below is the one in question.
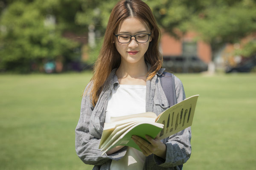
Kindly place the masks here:
POLYGON ((102 138, 99 143, 99 149, 104 151, 102 155, 119 145, 140 150, 140 147, 131 139, 132 135, 145 139, 145 135, 155 138, 160 133, 160 139, 164 139, 191 126, 198 96, 191 96, 163 111, 158 116, 153 112, 146 112, 111 117, 111 122, 104 124, 102 138))

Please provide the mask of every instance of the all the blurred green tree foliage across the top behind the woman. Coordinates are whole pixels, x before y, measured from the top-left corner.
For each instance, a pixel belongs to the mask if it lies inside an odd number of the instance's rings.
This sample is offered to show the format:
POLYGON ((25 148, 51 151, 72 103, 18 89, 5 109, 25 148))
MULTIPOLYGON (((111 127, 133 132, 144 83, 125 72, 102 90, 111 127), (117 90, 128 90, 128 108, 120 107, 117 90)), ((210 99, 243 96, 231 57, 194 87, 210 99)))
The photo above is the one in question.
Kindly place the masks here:
MULTIPOLYGON (((118 0, 0 0, 0 69, 23 67, 42 59, 74 57, 79 44, 65 31, 96 33, 98 51, 108 18, 118 0), (54 24, 53 24, 54 23, 54 24)), ((179 38, 194 30, 212 51, 256 32, 255 0, 143 0, 161 28, 179 38)), ((87 37, 86 37, 87 38, 87 37)), ((248 49, 255 51, 255 42, 248 49)), ((90 52, 95 58, 95 52, 90 52)), ((249 54, 248 54, 249 55, 249 54)))

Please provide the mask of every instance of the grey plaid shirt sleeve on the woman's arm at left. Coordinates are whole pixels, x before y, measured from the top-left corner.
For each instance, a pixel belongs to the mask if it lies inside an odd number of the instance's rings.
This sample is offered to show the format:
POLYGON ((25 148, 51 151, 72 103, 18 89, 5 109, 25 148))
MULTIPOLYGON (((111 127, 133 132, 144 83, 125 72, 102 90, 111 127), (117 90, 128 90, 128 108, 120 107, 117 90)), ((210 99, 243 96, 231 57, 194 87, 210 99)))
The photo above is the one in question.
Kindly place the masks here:
MULTIPOLYGON (((87 86, 88 88, 88 86, 87 86)), ((81 101, 81 111, 79 122, 76 126, 76 153, 85 164, 102 165, 111 162, 111 159, 118 160, 125 155, 126 150, 120 150, 118 153, 102 155, 99 149, 99 137, 92 135, 89 131, 90 118, 93 112, 90 95, 84 94, 81 101)))

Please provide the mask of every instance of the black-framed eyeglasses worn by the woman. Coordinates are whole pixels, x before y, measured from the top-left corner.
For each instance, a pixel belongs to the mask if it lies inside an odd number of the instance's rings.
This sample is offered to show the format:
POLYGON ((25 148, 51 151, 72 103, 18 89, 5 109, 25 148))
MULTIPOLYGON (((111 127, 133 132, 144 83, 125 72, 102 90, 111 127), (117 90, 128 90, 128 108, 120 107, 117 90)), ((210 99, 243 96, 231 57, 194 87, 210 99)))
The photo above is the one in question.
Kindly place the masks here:
POLYGON ((129 43, 131 41, 131 37, 135 37, 135 40, 139 43, 148 42, 149 37, 151 34, 136 34, 136 35, 130 35, 130 34, 114 34, 120 43, 129 43))

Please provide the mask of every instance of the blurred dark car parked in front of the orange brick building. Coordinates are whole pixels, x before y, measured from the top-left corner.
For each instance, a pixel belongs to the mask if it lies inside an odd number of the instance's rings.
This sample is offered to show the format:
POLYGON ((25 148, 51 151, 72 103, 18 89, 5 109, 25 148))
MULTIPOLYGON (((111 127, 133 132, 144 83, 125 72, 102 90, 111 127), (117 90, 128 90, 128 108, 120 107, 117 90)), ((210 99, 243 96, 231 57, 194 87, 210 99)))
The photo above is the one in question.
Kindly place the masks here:
POLYGON ((207 71, 208 65, 196 56, 163 56, 163 68, 175 73, 198 73, 207 71))

